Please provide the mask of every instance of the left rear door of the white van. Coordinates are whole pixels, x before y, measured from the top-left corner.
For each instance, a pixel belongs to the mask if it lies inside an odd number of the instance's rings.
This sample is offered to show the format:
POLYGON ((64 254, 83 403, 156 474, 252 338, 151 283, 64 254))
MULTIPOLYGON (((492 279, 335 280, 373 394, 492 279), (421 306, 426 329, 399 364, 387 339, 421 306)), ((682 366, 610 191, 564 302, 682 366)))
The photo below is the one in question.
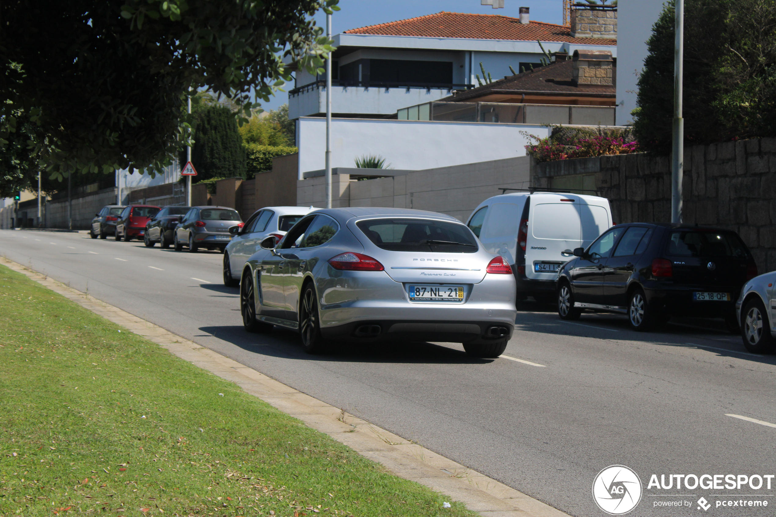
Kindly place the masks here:
POLYGON ((558 267, 570 260, 571 251, 580 246, 581 240, 579 196, 531 196, 525 276, 533 280, 555 280, 558 267))

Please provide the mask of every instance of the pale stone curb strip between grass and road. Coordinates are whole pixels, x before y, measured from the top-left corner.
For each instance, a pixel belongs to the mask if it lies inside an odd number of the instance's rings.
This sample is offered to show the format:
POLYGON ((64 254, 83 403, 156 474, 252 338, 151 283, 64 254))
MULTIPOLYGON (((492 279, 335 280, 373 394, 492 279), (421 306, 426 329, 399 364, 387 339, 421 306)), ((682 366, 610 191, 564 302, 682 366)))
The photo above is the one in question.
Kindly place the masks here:
POLYGON ((213 374, 234 382, 305 425, 326 433, 364 457, 376 461, 399 477, 424 484, 461 501, 484 517, 567 517, 566 513, 514 488, 464 467, 417 443, 374 426, 345 410, 275 381, 220 353, 199 346, 120 308, 101 302, 44 274, 0 257, 13 271, 26 275, 50 290, 101 315, 130 332, 158 343, 171 353, 213 374))

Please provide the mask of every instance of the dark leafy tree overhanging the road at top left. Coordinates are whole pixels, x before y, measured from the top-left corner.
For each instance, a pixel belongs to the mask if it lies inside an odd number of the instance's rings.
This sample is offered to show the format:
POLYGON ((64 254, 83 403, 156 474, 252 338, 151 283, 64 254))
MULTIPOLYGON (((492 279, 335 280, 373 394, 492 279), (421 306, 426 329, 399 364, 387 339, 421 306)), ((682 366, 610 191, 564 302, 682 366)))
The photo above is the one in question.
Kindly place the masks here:
POLYGON ((0 4, 0 190, 115 169, 161 171, 189 143, 187 97, 207 88, 247 118, 290 81, 284 57, 322 72, 312 16, 338 0, 11 0, 0 4), (32 176, 31 173, 34 173, 32 176))

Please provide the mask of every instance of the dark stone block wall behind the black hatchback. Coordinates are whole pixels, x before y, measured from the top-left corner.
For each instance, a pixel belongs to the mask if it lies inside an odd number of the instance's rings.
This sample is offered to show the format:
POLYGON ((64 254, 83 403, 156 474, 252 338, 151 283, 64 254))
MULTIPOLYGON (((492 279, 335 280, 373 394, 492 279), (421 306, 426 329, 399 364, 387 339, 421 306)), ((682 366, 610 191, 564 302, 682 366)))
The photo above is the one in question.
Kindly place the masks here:
MULTIPOLYGON (((611 202, 615 222, 670 221, 668 157, 643 153, 535 164, 534 186, 553 178, 591 176, 611 202)), ((776 138, 684 150, 684 222, 733 229, 760 273, 776 270, 776 138)))

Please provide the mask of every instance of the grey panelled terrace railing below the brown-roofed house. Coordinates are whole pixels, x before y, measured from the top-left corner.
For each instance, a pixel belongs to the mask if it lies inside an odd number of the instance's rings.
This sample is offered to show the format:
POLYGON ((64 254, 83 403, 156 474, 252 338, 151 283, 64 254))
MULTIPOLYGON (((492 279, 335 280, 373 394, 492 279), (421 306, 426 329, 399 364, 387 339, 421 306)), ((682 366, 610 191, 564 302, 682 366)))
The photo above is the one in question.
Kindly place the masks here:
POLYGON ((424 102, 397 110, 397 119, 614 126, 615 106, 515 104, 508 102, 424 102))

